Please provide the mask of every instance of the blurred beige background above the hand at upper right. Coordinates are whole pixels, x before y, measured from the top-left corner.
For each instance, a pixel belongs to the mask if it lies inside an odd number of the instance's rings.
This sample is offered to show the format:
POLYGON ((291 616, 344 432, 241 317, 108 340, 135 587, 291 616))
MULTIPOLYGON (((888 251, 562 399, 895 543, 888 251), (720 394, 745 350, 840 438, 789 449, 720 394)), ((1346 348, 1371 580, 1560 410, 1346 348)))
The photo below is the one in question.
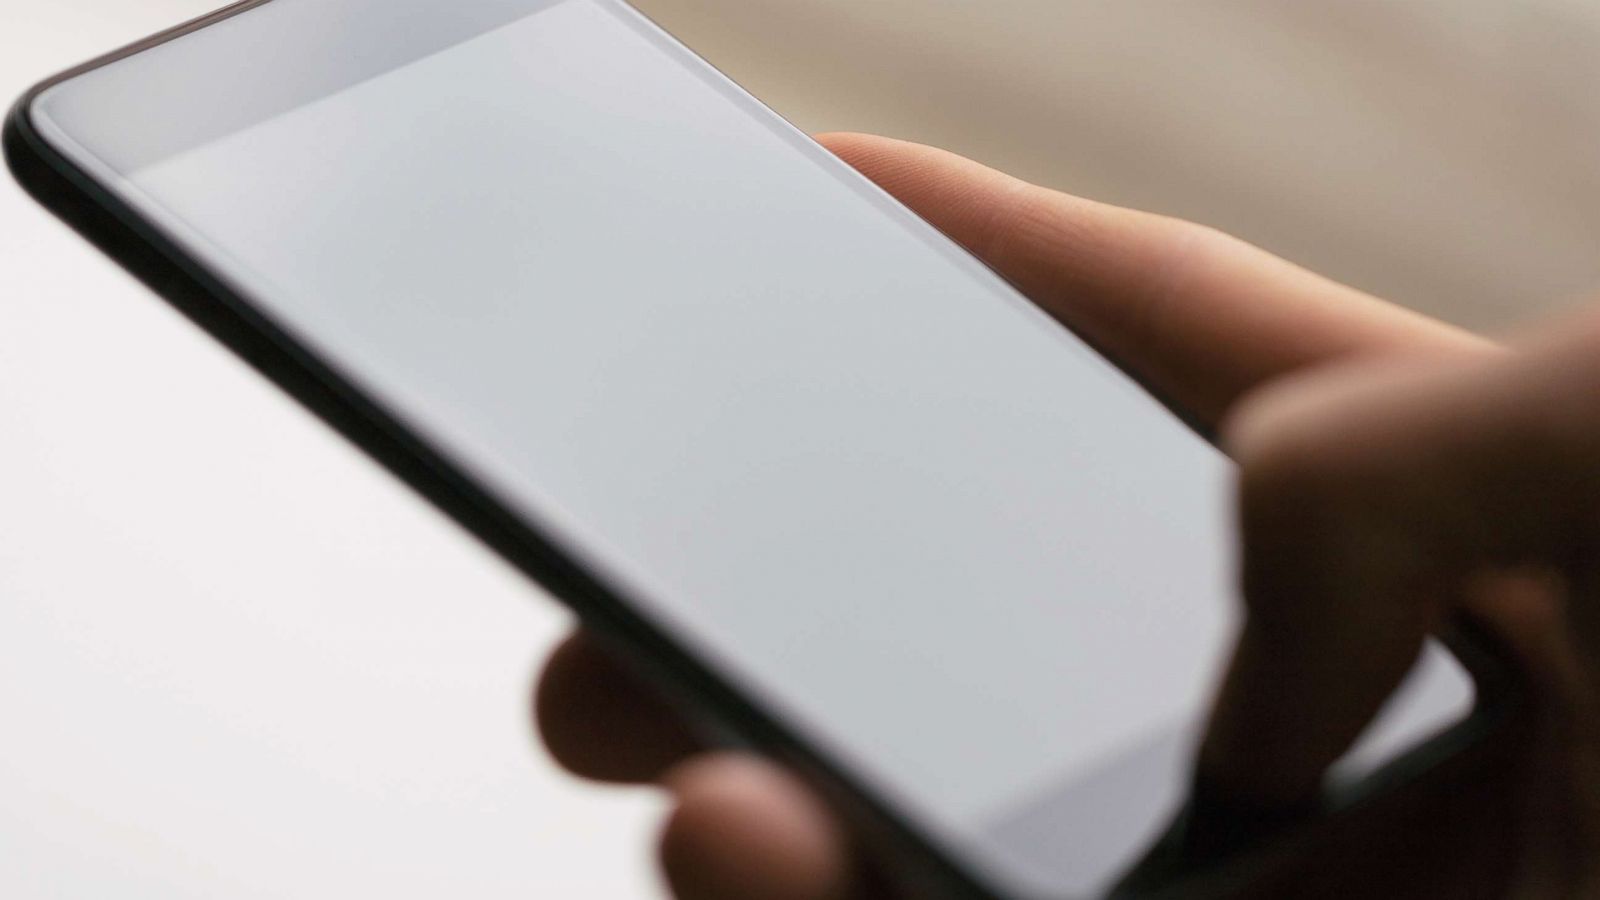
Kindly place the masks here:
POLYGON ((1461 323, 1600 280, 1584 0, 642 0, 806 128, 1194 218, 1461 323))

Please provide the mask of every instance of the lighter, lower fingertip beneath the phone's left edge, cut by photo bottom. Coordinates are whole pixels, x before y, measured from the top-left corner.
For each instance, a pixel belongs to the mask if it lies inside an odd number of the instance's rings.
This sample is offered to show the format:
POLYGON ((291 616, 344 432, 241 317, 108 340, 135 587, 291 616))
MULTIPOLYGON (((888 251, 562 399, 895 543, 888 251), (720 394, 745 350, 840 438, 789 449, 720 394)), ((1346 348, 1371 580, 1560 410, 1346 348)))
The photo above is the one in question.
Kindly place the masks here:
POLYGON ((744 756, 675 769, 677 810, 661 863, 682 900, 845 900, 853 866, 843 831, 803 785, 744 756))

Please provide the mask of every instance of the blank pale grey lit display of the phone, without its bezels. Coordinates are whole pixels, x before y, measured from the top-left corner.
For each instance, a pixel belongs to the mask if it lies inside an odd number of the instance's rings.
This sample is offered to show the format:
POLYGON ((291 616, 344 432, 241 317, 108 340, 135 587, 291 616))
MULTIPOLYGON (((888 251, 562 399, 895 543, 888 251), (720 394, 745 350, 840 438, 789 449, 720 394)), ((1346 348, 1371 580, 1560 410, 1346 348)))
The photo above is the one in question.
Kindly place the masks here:
MULTIPOLYGON (((94 110, 70 99, 40 109, 82 136, 94 110)), ((1203 703, 1227 463, 608 0, 123 175, 283 328, 918 815, 982 830, 1203 703)))

